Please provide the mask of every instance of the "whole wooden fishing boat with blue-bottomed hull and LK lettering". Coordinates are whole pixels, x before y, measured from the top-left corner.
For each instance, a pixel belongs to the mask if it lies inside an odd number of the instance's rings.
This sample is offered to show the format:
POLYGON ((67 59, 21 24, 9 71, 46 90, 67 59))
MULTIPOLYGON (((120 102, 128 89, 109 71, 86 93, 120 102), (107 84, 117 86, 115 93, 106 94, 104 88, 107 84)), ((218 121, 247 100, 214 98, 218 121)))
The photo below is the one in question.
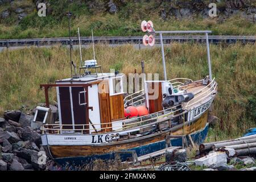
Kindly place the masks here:
MULTIPOLYGON (((211 31, 155 31, 151 21, 143 21, 141 27, 147 31, 143 37, 145 46, 153 46, 155 35, 159 34, 164 80, 143 77, 143 89, 125 97, 125 75, 102 73, 94 56, 93 60, 81 59, 82 74, 71 73, 70 78, 55 84, 40 85, 46 95, 46 107, 37 107, 34 122, 42 122, 42 145, 57 163, 113 159, 116 154, 126 160, 131 153, 150 154, 166 148, 166 143, 182 146, 188 137, 201 143, 207 136, 209 108, 217 94, 217 82, 210 68, 211 31), (163 34, 205 34, 209 76, 196 81, 168 80, 163 34), (96 73, 91 73, 91 69, 96 73), (52 87, 57 92, 58 121, 49 106, 48 89, 52 87), (45 114, 41 120, 39 113, 45 114)), ((76 69, 71 63, 71 72, 72 65, 76 69)))

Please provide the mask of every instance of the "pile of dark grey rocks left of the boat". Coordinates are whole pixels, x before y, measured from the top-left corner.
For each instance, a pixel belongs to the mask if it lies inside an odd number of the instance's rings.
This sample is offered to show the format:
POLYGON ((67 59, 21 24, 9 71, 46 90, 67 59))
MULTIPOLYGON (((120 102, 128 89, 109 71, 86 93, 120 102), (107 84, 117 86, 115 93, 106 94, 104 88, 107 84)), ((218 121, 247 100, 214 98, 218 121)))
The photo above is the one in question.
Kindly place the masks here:
POLYGON ((20 110, 6 111, 0 118, 0 171, 47 169, 49 158, 33 118, 20 110))

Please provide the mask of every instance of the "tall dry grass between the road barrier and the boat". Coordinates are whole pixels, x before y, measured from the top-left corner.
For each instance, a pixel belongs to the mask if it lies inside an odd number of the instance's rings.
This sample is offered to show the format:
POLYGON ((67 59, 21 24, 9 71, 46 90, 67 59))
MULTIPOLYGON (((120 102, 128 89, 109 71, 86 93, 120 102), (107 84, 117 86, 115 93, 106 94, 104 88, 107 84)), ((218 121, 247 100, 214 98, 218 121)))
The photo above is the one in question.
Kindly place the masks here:
MULTIPOLYGON (((214 130, 214 139, 237 136, 256 125, 256 45, 210 45, 213 77, 218 82, 218 95, 213 113, 220 118, 214 130)), ((82 49, 84 59, 92 57, 92 48, 82 49)), ((79 64, 79 52, 74 60, 79 64)), ((96 46, 96 59, 104 72, 110 68, 123 73, 141 71, 140 61, 146 60, 147 73, 162 74, 159 48, 134 49, 133 46, 96 46)), ((0 111, 30 109, 44 102, 39 84, 53 83, 69 77, 69 52, 63 47, 25 48, 0 52, 0 111), (4 69, 3 69, 4 68, 4 69)), ((205 46, 174 43, 166 47, 168 78, 201 79, 208 74, 205 46)), ((51 101, 56 101, 52 90, 51 101)))

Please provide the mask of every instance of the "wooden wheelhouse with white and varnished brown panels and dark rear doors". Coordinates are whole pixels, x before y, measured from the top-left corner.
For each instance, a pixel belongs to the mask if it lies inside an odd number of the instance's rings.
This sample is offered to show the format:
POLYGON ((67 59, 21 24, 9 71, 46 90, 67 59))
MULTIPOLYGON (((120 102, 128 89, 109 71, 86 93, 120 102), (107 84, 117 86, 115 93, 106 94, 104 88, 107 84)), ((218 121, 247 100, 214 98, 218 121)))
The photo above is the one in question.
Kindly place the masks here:
POLYGON ((47 107, 48 88, 56 87, 61 133, 100 133, 112 131, 111 123, 124 118, 122 82, 123 74, 102 73, 41 86, 46 90, 47 107))

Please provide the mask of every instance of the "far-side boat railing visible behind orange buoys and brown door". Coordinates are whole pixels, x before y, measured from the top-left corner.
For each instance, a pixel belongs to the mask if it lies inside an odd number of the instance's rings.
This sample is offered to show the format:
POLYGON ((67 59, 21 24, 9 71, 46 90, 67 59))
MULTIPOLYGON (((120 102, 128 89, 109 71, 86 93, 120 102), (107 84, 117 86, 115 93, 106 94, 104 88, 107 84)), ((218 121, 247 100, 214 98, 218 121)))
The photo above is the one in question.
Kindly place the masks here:
MULTIPOLYGON (((176 81, 176 80, 185 80, 185 81, 193 81, 189 78, 174 78, 172 80, 168 80, 169 82, 171 82, 171 84, 174 86, 174 88, 179 88, 180 85, 183 85, 184 82, 181 81, 176 81), (175 82, 172 82, 175 81, 175 82)), ((127 106, 127 104, 129 103, 130 105, 140 105, 143 104, 145 101, 144 98, 144 89, 139 90, 138 92, 135 92, 133 94, 130 94, 129 96, 126 96, 123 101, 125 102, 125 106, 127 106), (137 100, 137 98, 143 97, 140 100, 137 100)))

